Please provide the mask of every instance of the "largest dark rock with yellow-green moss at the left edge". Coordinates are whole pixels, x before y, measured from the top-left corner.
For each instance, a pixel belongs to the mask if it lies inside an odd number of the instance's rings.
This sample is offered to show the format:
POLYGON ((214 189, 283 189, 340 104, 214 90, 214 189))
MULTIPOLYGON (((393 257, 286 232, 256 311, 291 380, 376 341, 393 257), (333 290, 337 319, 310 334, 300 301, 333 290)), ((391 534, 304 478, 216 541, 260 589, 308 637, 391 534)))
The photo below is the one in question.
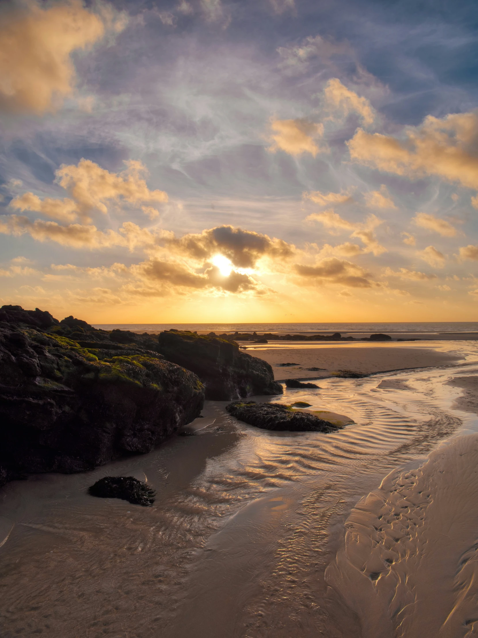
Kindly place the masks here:
MULTIPOLYGON (((11 318, 12 311, 5 312, 11 318)), ((108 348, 101 341, 84 347, 58 334, 80 325, 54 322, 41 332, 21 318, 0 322, 1 482, 149 452, 200 414, 200 380, 159 353, 113 344, 108 333, 108 348)), ((157 347, 149 337, 142 340, 157 347)))

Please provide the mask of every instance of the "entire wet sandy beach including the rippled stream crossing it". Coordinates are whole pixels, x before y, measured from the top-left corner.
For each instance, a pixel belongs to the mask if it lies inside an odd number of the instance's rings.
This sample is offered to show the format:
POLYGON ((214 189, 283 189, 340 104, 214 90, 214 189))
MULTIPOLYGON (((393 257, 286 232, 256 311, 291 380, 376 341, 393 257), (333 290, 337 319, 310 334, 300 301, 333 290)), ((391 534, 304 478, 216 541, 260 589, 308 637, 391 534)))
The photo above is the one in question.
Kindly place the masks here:
POLYGON ((207 401, 195 436, 11 482, 0 492, 0 620, 11 635, 474 635, 475 344, 246 352, 278 379, 320 378, 320 389, 255 399, 304 401, 352 424, 271 432, 207 401), (153 507, 89 496, 105 475, 146 479, 153 507))

